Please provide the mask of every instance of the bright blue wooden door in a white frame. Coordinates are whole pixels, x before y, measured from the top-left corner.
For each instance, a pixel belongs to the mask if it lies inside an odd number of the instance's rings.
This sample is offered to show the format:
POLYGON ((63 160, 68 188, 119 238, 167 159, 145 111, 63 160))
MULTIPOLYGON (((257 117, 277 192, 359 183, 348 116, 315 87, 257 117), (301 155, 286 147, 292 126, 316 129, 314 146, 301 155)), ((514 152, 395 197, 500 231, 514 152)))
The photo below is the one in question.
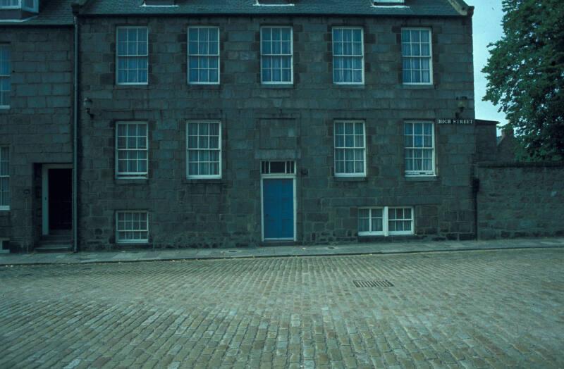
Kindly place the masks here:
POLYGON ((262 196, 264 239, 294 239, 294 180, 265 179, 262 196))

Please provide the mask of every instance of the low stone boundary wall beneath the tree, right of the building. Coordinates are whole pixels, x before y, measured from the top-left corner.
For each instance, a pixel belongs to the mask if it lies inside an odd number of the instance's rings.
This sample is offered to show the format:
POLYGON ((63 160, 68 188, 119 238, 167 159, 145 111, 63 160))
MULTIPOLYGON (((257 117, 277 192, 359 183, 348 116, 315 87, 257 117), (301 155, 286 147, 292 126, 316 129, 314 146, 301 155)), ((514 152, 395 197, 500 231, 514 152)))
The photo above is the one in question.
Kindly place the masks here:
POLYGON ((564 236, 564 163, 477 166, 479 239, 564 236))

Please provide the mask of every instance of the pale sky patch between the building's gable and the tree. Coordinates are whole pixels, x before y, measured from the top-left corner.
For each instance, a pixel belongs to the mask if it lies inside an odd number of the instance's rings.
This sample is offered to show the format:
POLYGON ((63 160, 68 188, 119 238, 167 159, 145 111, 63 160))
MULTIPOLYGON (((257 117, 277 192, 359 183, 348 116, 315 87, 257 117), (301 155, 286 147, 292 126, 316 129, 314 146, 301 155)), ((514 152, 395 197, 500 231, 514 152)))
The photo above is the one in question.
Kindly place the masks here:
POLYGON ((497 120, 501 124, 507 123, 505 114, 498 113, 498 106, 489 101, 482 101, 486 94, 486 75, 482 68, 489 58, 488 44, 501 39, 503 28, 501 20, 503 11, 501 0, 465 0, 468 5, 474 6, 474 89, 476 99, 476 118, 485 120, 497 120))

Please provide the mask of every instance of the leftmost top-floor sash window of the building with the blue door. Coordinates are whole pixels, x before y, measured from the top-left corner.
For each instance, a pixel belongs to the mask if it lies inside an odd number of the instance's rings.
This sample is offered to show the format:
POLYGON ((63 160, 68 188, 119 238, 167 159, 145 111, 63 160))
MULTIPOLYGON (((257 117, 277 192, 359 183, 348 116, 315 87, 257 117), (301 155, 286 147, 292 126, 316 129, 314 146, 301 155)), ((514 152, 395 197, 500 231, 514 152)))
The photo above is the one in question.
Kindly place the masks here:
POLYGON ((149 30, 147 27, 118 27, 118 85, 147 85, 149 82, 149 30))

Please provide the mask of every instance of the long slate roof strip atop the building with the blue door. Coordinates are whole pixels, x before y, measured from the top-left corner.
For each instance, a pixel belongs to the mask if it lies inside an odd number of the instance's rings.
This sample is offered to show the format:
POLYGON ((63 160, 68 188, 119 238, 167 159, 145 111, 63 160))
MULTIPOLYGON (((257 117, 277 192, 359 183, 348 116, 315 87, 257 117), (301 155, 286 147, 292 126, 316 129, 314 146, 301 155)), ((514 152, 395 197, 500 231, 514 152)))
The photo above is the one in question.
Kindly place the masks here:
POLYGON ((373 6, 372 0, 297 0, 293 6, 257 6, 256 0, 176 0, 177 6, 143 6, 144 0, 90 0, 85 15, 400 15, 460 16, 448 0, 405 0, 373 6))

